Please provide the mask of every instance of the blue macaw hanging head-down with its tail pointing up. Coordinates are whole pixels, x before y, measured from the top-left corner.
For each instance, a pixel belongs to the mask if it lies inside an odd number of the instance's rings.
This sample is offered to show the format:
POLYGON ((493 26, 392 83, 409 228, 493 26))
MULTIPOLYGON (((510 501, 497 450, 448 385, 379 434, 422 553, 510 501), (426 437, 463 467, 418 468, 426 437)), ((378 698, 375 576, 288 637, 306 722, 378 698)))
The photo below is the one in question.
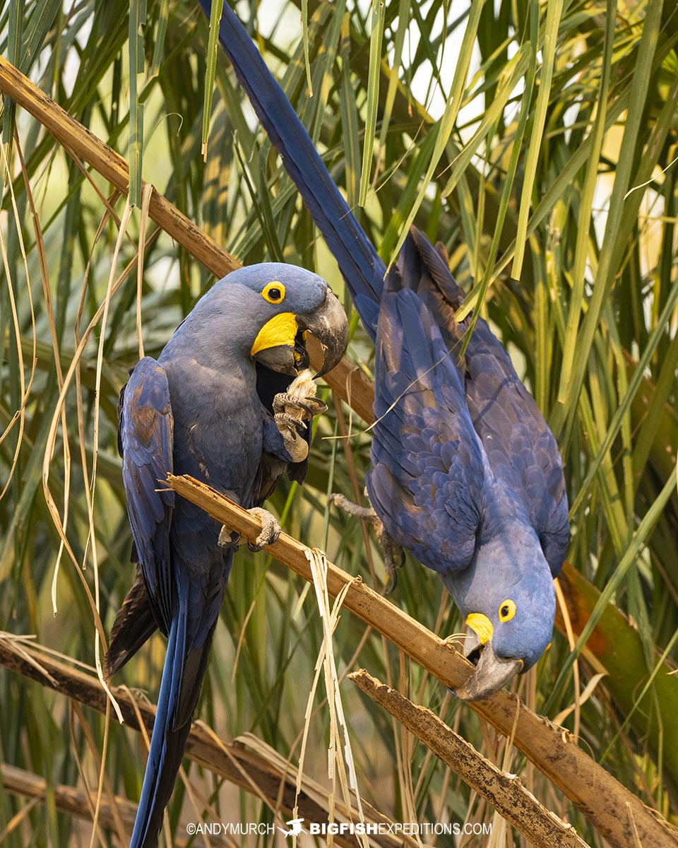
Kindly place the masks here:
POLYGON ((463 292, 442 252, 413 229, 386 274, 227 3, 220 43, 375 341, 370 502, 386 533, 440 574, 474 634, 475 670, 455 694, 491 695, 552 638, 570 535, 558 446, 481 318, 458 354, 468 321, 455 321, 463 292))

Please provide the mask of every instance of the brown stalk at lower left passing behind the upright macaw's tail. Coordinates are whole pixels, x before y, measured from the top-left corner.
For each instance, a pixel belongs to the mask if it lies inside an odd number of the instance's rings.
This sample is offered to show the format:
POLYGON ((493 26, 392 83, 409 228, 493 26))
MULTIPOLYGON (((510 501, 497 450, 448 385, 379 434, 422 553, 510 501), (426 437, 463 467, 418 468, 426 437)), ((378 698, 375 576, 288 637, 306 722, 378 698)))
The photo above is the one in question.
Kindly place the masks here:
MULTIPOLYGON (((92 707, 105 715, 107 695, 102 689, 98 678, 77 668, 72 668, 53 656, 39 650, 39 646, 29 646, 22 642, 20 646, 15 639, 0 638, 0 665, 11 671, 23 674, 48 689, 54 689, 62 695, 77 700, 81 704, 92 707)), ((112 687, 111 691, 118 701, 120 710, 127 724, 133 730, 139 730, 139 717, 148 733, 153 730, 155 706, 142 700, 135 699, 129 689, 122 686, 112 687)), ((201 767, 219 774, 231 784, 239 786, 267 801, 273 809, 280 808, 284 820, 292 816, 294 809, 297 773, 291 764, 284 767, 268 760, 265 756, 253 750, 247 750, 237 740, 233 742, 220 739, 202 722, 194 722, 186 742, 185 755, 197 762, 201 767), (280 802, 280 807, 278 807, 280 802)), ((23 793, 28 794, 28 793, 23 793)), ((129 802, 128 802, 129 803, 129 802)), ((303 779, 302 791, 297 801, 298 814, 308 822, 326 823, 325 790, 307 778, 303 779)), ((134 809, 136 811, 136 805, 134 809)), ((384 825, 383 834, 371 837, 376 845, 383 848, 395 848, 396 845, 408 845, 415 848, 417 843, 410 837, 396 838, 387 834, 392 822, 381 813, 365 805, 366 821, 384 825)), ((341 804, 336 804, 336 821, 358 821, 358 811, 353 808, 345 810, 341 804)), ((132 820, 134 815, 131 816, 132 820)), ((128 818, 123 815, 125 823, 128 818)), ((102 817, 103 820, 103 817, 102 817)), ((357 845, 357 841, 336 835, 337 845, 357 845)))

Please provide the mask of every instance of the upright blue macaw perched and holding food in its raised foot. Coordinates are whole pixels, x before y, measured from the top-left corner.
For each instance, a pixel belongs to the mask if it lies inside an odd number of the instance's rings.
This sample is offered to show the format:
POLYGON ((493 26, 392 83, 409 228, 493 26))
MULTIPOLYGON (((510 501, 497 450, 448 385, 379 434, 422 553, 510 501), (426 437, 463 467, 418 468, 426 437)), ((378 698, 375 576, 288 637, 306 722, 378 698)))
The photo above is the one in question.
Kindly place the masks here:
POLYGON ((131 838, 157 845, 236 542, 206 512, 162 488, 169 472, 191 474, 245 507, 263 529, 257 547, 280 533, 258 505, 284 471, 301 481, 307 417, 325 410, 286 393, 308 367, 306 332, 320 341, 319 376, 342 358, 347 318, 327 283, 293 265, 233 271, 201 298, 158 357, 146 356, 120 393, 119 448, 138 561, 106 657, 108 676, 156 628, 168 638, 158 710, 131 838))

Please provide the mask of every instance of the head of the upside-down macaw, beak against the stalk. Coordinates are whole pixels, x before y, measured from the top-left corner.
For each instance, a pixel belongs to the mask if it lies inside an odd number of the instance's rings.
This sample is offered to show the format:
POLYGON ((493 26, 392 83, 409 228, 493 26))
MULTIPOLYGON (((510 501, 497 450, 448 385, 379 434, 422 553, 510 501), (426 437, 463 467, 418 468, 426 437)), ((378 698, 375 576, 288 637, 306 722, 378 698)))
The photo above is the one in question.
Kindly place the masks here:
POLYGON ((447 588, 464 616, 464 654, 475 666, 461 700, 481 700, 531 668, 553 638, 553 577, 531 527, 513 526, 481 541, 464 572, 448 574, 447 588))

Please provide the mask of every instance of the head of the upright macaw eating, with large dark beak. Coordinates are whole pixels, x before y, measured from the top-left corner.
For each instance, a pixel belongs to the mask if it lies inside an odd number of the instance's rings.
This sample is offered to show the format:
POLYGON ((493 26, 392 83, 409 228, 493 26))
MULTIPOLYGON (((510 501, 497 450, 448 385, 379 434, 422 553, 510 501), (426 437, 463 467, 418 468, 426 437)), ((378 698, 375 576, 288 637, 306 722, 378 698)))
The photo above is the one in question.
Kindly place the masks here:
MULTIPOLYGON (((232 271, 201 298, 194 314, 203 329, 208 320, 217 332, 219 321, 230 350, 291 376, 308 368, 307 333, 323 351, 318 377, 337 365, 348 343, 342 304, 322 277, 297 265, 264 262, 232 271)), ((218 338, 210 341, 219 344, 218 338)))

